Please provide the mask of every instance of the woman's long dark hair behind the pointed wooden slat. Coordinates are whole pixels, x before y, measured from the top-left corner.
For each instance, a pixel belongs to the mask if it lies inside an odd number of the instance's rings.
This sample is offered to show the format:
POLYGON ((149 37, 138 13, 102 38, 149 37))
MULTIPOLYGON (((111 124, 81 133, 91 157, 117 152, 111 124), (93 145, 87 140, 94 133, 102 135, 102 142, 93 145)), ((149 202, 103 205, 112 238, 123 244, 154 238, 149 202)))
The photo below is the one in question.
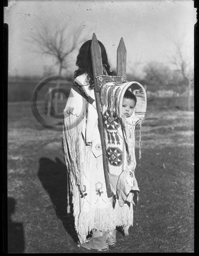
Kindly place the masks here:
MULTIPOLYGON (((94 89, 94 76, 92 73, 92 60, 91 60, 91 42, 88 40, 82 44, 77 56, 76 65, 78 69, 74 72, 74 78, 78 75, 87 73, 88 82, 90 83, 89 89, 94 89)), ((115 72, 110 71, 110 65, 108 64, 107 52, 104 45, 98 40, 101 48, 101 62, 108 75, 116 75, 115 72)))

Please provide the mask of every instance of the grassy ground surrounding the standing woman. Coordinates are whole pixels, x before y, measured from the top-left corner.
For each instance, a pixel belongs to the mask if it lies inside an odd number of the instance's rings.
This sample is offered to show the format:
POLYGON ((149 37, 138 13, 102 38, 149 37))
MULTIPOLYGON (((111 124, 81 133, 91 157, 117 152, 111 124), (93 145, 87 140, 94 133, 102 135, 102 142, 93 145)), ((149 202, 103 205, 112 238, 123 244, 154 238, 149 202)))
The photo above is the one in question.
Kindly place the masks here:
MULTIPOLYGON (((8 121, 9 252, 89 253, 66 214, 61 132, 41 127, 28 103, 9 104, 8 121)), ((134 226, 109 253, 193 252, 193 168, 193 112, 149 104, 134 226)))

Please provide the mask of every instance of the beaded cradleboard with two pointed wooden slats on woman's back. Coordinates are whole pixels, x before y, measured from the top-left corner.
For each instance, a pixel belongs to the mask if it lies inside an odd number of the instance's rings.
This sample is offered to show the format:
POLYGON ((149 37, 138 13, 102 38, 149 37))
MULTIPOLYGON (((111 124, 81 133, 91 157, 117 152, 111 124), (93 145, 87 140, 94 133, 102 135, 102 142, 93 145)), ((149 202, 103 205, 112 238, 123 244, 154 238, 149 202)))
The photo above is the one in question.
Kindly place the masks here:
MULTIPOLYGON (((126 181, 129 174, 134 175, 136 167, 134 129, 145 117, 146 91, 140 83, 126 81, 126 49, 122 38, 117 49, 117 75, 103 74, 101 51, 95 33, 92 37, 91 56, 107 195, 111 197, 120 194, 118 190, 128 195, 130 190, 139 191, 136 179, 134 184, 129 179, 127 188, 126 181), (137 98, 134 113, 128 120, 122 117, 122 100, 126 90, 130 90, 137 98)), ((118 196, 121 206, 124 198, 125 195, 118 196)))

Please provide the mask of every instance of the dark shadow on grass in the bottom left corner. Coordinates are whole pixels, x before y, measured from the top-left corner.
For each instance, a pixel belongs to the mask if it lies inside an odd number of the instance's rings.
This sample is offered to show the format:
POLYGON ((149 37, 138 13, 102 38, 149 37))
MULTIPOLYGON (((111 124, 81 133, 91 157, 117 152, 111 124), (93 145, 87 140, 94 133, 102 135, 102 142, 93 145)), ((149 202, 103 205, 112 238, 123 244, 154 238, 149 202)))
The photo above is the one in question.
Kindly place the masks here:
POLYGON ((11 215, 15 212, 15 205, 14 198, 7 198, 8 253, 24 253, 23 223, 16 223, 11 219, 11 215))

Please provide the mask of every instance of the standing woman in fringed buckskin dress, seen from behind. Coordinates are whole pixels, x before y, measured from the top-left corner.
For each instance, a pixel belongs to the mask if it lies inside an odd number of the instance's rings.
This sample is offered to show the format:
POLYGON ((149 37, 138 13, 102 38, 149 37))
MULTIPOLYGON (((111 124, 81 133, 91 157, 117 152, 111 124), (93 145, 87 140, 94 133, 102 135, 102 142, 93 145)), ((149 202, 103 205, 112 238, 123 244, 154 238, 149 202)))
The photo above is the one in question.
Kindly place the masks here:
MULTIPOLYGON (((104 45, 100 41, 99 45, 104 74, 115 75, 110 71, 104 45)), ((79 246, 107 250, 108 245, 116 243, 116 226, 123 226, 125 234, 128 234, 129 226, 133 225, 133 205, 124 204, 121 207, 116 198, 107 197, 95 106, 91 40, 80 48, 76 65, 76 86, 70 91, 63 125, 63 145, 73 194, 75 229, 79 246), (92 232, 92 237, 87 240, 89 232, 92 232)))

